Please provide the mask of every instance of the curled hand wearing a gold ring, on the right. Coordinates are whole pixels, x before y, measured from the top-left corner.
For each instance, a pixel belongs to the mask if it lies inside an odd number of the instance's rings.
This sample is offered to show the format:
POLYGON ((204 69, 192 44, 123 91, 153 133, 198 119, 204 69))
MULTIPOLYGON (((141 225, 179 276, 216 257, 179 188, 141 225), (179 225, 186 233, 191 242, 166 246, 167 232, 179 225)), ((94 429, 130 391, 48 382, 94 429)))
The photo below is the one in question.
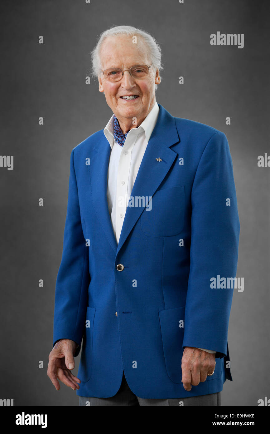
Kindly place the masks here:
POLYGON ((182 355, 182 383, 186 391, 205 381, 215 370, 215 353, 193 347, 185 347, 182 355))

